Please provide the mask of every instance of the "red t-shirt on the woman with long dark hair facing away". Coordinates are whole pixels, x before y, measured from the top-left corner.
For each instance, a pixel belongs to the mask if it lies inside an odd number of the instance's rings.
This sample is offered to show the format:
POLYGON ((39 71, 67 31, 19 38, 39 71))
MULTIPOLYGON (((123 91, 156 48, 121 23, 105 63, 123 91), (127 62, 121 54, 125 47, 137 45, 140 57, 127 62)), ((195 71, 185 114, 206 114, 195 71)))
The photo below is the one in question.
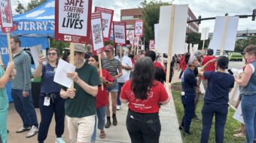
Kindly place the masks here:
POLYGON ((151 87, 148 93, 147 99, 136 99, 133 90, 131 88, 132 81, 127 81, 121 90, 120 98, 126 99, 129 102, 129 108, 132 111, 139 113, 157 113, 159 111, 159 102, 164 102, 168 99, 166 89, 158 81, 154 81, 153 87, 151 87))

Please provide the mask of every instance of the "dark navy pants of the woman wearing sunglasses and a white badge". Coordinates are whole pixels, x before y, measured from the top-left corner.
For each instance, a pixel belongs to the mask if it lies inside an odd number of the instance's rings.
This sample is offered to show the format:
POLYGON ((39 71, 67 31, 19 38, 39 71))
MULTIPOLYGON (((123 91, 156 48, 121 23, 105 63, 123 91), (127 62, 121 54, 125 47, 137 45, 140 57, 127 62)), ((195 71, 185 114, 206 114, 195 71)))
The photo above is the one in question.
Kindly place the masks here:
POLYGON ((45 95, 41 95, 39 99, 39 107, 41 114, 41 123, 38 131, 38 142, 44 142, 47 138, 50 122, 55 114, 55 133, 56 137, 60 138, 64 132, 65 123, 65 100, 62 99, 59 94, 50 97, 50 106, 44 105, 45 95))

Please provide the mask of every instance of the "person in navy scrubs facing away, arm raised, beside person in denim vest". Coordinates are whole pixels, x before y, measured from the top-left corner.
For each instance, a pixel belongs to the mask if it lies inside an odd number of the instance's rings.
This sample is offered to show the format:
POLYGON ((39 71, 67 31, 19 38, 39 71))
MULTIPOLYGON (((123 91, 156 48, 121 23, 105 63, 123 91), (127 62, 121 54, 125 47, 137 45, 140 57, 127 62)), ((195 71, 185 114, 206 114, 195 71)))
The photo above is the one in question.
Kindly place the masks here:
POLYGON ((207 62, 199 71, 199 75, 208 80, 202 109, 203 129, 201 143, 207 143, 209 140, 214 115, 215 141, 222 143, 224 140, 224 126, 228 112, 228 96, 235 81, 233 75, 226 73, 228 62, 229 60, 226 56, 219 56, 218 59, 212 59, 207 62), (204 71, 211 62, 215 62, 216 71, 204 71))

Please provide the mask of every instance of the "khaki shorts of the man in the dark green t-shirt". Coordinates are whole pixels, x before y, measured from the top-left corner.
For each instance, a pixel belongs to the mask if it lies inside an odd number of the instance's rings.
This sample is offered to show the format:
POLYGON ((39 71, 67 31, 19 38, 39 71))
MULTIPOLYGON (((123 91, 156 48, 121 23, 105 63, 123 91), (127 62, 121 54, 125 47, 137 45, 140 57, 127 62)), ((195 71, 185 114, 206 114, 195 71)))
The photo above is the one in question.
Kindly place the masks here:
POLYGON ((66 116, 71 142, 90 142, 94 131, 95 115, 87 117, 66 116))

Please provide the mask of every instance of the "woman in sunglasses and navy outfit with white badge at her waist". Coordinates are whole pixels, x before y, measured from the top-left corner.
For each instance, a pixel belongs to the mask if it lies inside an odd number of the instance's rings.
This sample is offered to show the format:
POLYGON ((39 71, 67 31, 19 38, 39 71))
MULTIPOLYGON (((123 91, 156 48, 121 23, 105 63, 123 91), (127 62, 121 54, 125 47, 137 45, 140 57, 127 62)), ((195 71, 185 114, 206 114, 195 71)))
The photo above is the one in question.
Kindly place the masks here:
POLYGON ((47 51, 47 64, 44 65, 44 55, 38 56, 39 64, 35 69, 34 78, 41 78, 41 95, 39 108, 41 123, 38 131, 38 142, 42 143, 47 138, 50 122, 55 114, 56 143, 65 142, 62 138, 65 123, 65 100, 59 96, 60 86, 53 82, 56 66, 59 61, 59 50, 50 48, 47 51))

